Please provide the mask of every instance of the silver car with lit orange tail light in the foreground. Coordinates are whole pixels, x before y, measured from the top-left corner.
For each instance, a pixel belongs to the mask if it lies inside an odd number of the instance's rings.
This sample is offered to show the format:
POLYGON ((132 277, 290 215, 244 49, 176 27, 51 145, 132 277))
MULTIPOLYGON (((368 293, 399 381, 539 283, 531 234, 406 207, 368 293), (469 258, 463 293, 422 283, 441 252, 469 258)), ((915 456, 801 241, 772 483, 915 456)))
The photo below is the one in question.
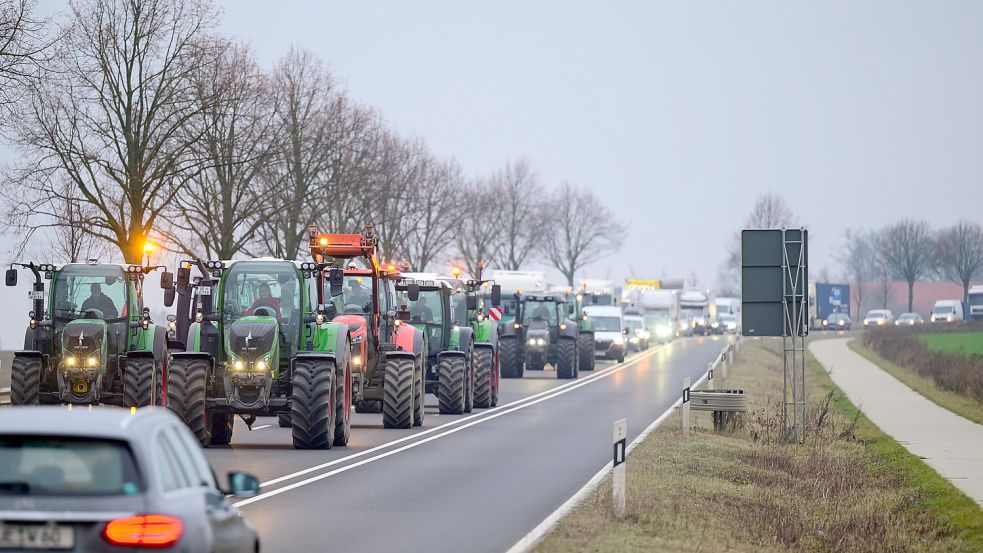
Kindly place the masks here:
POLYGON ((198 441, 157 408, 13 407, 0 417, 0 550, 259 551, 198 441))

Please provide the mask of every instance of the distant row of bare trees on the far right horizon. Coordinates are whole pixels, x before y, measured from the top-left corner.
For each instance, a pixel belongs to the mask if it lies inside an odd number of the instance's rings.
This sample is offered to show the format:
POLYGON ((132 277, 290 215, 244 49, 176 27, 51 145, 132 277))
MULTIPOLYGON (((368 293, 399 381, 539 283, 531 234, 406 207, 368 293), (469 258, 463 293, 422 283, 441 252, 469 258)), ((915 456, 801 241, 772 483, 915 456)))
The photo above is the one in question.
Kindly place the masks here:
POLYGON ((878 230, 848 230, 845 242, 843 266, 858 306, 876 292, 886 307, 895 279, 908 285, 909 311, 920 280, 957 282, 965 301, 973 279, 983 278, 983 225, 976 222, 933 230, 925 221, 902 219, 878 230))

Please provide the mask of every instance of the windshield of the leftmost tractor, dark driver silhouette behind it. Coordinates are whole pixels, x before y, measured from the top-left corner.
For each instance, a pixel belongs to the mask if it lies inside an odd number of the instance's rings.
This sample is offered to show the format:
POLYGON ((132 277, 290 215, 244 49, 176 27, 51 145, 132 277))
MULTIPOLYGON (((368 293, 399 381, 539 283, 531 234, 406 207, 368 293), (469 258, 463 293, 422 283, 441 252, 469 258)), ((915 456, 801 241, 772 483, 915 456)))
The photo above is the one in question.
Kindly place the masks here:
POLYGON ((127 317, 126 275, 116 265, 66 265, 52 288, 54 320, 62 325, 73 319, 112 321, 127 317))

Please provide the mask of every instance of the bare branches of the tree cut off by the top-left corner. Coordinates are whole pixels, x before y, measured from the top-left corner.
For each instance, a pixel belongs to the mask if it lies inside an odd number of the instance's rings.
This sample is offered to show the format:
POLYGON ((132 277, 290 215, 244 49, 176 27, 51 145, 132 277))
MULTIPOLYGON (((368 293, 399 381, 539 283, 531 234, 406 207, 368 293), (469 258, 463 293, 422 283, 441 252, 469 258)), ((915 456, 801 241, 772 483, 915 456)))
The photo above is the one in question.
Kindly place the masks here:
POLYGON ((37 0, 0 0, 0 122, 40 77, 52 39, 47 20, 37 17, 37 0))

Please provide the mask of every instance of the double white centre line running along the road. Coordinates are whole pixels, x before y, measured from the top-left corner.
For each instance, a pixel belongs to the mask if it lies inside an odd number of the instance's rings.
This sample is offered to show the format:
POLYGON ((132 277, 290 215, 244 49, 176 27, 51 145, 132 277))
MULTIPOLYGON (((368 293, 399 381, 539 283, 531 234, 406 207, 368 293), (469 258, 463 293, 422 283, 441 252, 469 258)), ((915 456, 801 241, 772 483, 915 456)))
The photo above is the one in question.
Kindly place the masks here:
MULTIPOLYGON (((425 443, 429 443, 429 442, 432 442, 434 440, 439 440, 440 438, 446 438, 447 436, 450 436, 451 434, 455 434, 455 433, 457 433, 457 432, 459 432, 461 430, 464 430, 464 429, 470 428, 472 426, 476 426, 476 425, 482 424, 484 422, 488 422, 488 421, 490 421, 492 419, 497 419, 498 417, 501 417, 503 415, 507 415, 507 414, 512 413, 514 411, 518 411, 520 409, 525 409, 526 407, 531 407, 531 406, 536 405, 538 403, 542 403, 542 402, 544 402, 544 401, 546 401, 548 399, 553 399, 555 397, 559 397, 559 396, 565 395, 565 394, 570 393, 570 392, 572 392, 572 391, 574 391, 574 390, 576 390, 578 388, 582 388, 584 386, 587 386, 588 384, 592 384, 592 383, 597 382, 599 380, 603 380, 605 378, 608 378, 609 376, 613 376, 613 375, 615 375, 615 374, 623 371, 624 369, 627 369, 629 367, 632 367, 635 364, 637 364, 639 361, 641 361, 641 360, 643 360, 643 359, 645 359, 647 357, 650 357, 651 355, 654 355, 660 349, 662 349, 662 348, 653 349, 653 350, 651 350, 651 351, 649 351, 649 352, 647 352, 645 354, 642 354, 642 355, 637 356, 635 359, 632 359, 631 361, 628 361, 628 362, 623 363, 621 365, 615 365, 615 366, 613 366, 613 367, 611 367, 611 368, 609 368, 609 369, 607 369, 605 371, 602 371, 600 373, 595 373, 595 374, 593 374, 593 375, 591 375, 591 376, 589 376, 589 377, 587 377, 587 378, 585 378, 583 380, 574 380, 572 382, 569 382, 568 384, 564 384, 563 386, 559 386, 557 388, 553 388, 551 390, 547 390, 546 392, 540 392, 540 393, 538 393, 538 394, 536 394, 534 396, 529 396, 528 398, 524 398, 523 400, 514 401, 514 402, 509 403, 507 405, 503 405, 502 407, 496 407, 494 409, 490 409, 490 410, 488 410, 488 411, 486 411, 484 413, 480 413, 478 416, 481 416, 481 418, 479 418, 477 420, 472 420, 471 422, 468 422, 467 424, 457 425, 455 423, 460 423, 460 422, 464 422, 464 421, 466 421, 468 419, 473 419, 473 418, 475 418, 476 415, 472 415, 470 417, 465 417, 463 419, 459 419, 459 420, 455 421, 454 423, 448 423, 448 424, 445 424, 443 426, 439 426, 437 428, 432 428, 432 429, 428 430, 427 433, 436 431, 438 429, 448 429, 448 427, 453 426, 453 428, 450 428, 446 432, 443 432, 441 434, 437 434, 435 436, 430 436, 430 437, 425 438, 423 440, 419 440, 419 441, 416 441, 416 442, 409 443, 407 445, 404 445, 402 447, 393 449, 391 451, 387 451, 385 453, 380 453, 379 455, 375 455, 373 457, 369 457, 367 459, 363 459, 361 461, 357 461, 357 462, 352 463, 350 465, 345 465, 345 466, 343 466, 341 468, 337 468, 337 469, 334 469, 334 470, 331 470, 331 471, 328 471, 328 472, 325 472, 325 473, 322 473, 322 474, 318 474, 317 476, 312 476, 310 478, 307 478, 305 480, 301 480, 299 482, 294 482, 293 484, 289 484, 289 485, 283 486, 282 488, 277 488, 275 490, 271 490, 271 491, 268 491, 266 493, 261 493, 261 494, 259 494, 257 496, 250 497, 249 499, 244 499, 242 501, 239 501, 238 503, 235 503, 234 506, 235 507, 245 507, 246 505, 249 505, 249 504, 252 504, 252 503, 256 503, 257 501, 262 501, 264 499, 268 499, 270 497, 274 497, 274 496, 280 495, 281 493, 288 492, 290 490, 294 490, 294 489, 300 488, 302 486, 306 486, 308 484, 313 484, 314 482, 317 482, 319 480, 323 480, 325 478, 329 478, 329 477, 334 476, 336 474, 341 474, 343 472, 347 472, 347 471, 352 470, 354 468, 358 468, 358 467, 360 467, 362 465, 367 465, 369 463, 378 461, 380 459, 385 459, 386 457, 390 457, 392 455, 396 455, 397 453, 402 453, 403 451, 407 451, 407 450, 413 449, 413 448, 418 447, 418 446, 421 446, 421 445, 423 445, 425 443), (533 398, 535 398, 535 399, 533 399, 533 398), (532 401, 528 401, 528 400, 532 400, 532 401), (517 403, 520 404, 520 405, 516 405, 517 403), (495 411, 497 411, 497 412, 495 412, 495 411)), ((419 436, 421 436, 423 434, 424 433, 421 432, 419 434, 414 434, 413 436, 407 436, 406 438, 402 438, 401 440, 397 440, 397 441, 394 441, 394 442, 389 442, 388 444, 383 444, 381 446, 377 446, 375 448, 372 448, 371 450, 366 450, 366 451, 363 451, 361 453, 356 453, 355 455, 349 455, 348 457, 343 457, 342 459, 336 459, 335 461, 332 461, 330 463, 324 463, 323 465, 318 465, 317 467, 311 467, 309 469, 305 469, 303 471, 299 471, 297 473, 294 473, 293 475, 288 475, 288 476, 284 476, 284 477, 281 477, 281 478, 278 478, 278 479, 271 480, 270 482, 271 483, 272 482, 282 482, 283 480, 294 478, 297 475, 310 473, 310 472, 319 470, 320 468, 325 468, 325 467, 328 467, 328 466, 331 466, 331 465, 335 465, 335 464, 338 464, 338 463, 340 463, 342 461, 351 459, 353 457, 365 455, 365 454, 369 453, 370 451, 379 450, 379 449, 382 449, 384 447, 391 446, 391 445, 397 443, 398 441, 403 441, 403 440, 407 440, 407 439, 411 439, 411 438, 416 438, 416 437, 419 437, 419 436)), ((269 484, 269 483, 267 483, 267 484, 269 484)))

